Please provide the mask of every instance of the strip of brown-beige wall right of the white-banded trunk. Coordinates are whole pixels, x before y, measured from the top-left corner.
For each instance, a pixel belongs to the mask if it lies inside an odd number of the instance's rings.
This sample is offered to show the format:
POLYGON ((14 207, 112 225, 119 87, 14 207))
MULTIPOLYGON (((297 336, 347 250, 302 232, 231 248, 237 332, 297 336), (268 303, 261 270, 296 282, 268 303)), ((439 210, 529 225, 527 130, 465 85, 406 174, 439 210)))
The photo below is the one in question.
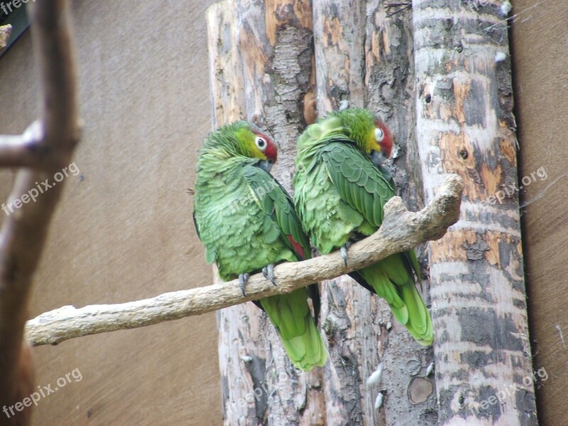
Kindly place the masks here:
POLYGON ((519 174, 522 179, 544 168, 547 175, 522 192, 530 203, 522 217, 532 352, 535 368, 545 368, 548 375, 537 391, 537 408, 541 425, 566 425, 568 4, 565 0, 513 4, 513 13, 519 13, 512 33, 519 174))

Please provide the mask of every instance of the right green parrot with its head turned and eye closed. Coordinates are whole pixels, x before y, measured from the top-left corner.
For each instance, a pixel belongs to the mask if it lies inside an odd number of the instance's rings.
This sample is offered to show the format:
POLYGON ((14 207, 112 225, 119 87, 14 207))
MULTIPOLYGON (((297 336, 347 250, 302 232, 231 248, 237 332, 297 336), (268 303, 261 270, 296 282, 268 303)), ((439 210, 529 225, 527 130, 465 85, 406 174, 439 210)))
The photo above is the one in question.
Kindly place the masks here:
MULTIPOLYGON (((294 203, 313 244, 326 254, 373 234, 395 185, 383 168, 393 146, 385 124, 370 111, 344 109, 308 126, 297 141, 294 203)), ((415 287, 420 277, 413 250, 397 253, 350 273, 383 297, 416 341, 432 344, 432 320, 415 287)))

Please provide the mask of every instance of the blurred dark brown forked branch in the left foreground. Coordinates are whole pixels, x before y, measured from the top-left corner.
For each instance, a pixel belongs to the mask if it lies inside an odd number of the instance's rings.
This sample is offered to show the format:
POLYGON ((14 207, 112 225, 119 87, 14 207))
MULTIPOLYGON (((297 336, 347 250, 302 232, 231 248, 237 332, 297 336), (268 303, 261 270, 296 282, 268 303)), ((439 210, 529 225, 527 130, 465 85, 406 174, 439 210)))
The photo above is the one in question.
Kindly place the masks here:
MULTIPOLYGON (((37 0, 29 4, 29 9, 34 56, 40 75, 41 115, 38 123, 31 126, 33 131, 26 133, 40 135, 38 144, 53 156, 48 163, 38 164, 34 170, 18 172, 11 200, 24 200, 26 192, 35 187, 36 182, 53 178, 62 165, 67 165, 79 135, 67 1, 37 0)), ((14 146, 25 146, 26 137, 4 143, 1 151, 22 160, 26 155, 16 153, 14 146)), ((21 203, 21 207, 4 220, 0 230, 0 407, 21 400, 23 376, 31 374, 31 366, 27 371, 21 371, 28 355, 26 346, 22 345, 23 327, 28 316, 33 274, 62 193, 62 183, 43 192, 34 202, 21 203)), ((0 425, 21 421, 21 417, 14 419, 2 415, 0 425)))

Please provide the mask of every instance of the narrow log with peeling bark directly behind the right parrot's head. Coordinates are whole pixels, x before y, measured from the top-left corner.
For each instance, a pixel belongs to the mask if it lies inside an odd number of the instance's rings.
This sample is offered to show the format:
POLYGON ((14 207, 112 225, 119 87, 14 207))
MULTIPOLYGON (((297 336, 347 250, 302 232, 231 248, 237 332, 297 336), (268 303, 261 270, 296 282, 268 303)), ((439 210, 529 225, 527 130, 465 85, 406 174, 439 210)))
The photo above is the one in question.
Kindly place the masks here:
MULTIPOLYGON (((348 104, 364 105, 364 4, 313 2, 319 116, 348 104)), ((378 366, 376 302, 347 275, 322 283, 322 329, 329 349, 323 386, 327 425, 344 425, 346 419, 363 425, 364 417, 373 418, 373 398, 364 383, 378 366)))

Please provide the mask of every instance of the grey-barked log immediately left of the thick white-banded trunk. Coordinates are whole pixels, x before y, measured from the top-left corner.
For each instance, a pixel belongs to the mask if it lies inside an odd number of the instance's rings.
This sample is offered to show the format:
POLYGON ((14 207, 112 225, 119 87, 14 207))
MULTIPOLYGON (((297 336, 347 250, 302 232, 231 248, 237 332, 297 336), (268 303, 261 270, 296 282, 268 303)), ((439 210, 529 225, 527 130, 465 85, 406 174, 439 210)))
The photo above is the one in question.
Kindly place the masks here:
MULTIPOLYGON (((388 0, 368 0, 365 35, 366 107, 375 111, 394 135, 396 148, 391 170, 398 195, 409 209, 423 207, 422 170, 415 140, 415 72, 413 60, 413 12, 391 6, 388 0)), ((425 246, 417 249, 422 277, 427 277, 425 246)), ((422 299, 430 306, 430 285, 418 285, 422 299)), ((391 319, 395 332, 382 325, 379 356, 384 366, 381 389, 384 397, 385 425, 437 425, 437 400, 433 376, 432 346, 425 348, 392 319, 382 303, 381 317, 391 319)), ((436 333, 436 330, 435 330, 436 333)))

